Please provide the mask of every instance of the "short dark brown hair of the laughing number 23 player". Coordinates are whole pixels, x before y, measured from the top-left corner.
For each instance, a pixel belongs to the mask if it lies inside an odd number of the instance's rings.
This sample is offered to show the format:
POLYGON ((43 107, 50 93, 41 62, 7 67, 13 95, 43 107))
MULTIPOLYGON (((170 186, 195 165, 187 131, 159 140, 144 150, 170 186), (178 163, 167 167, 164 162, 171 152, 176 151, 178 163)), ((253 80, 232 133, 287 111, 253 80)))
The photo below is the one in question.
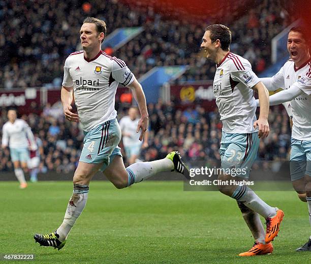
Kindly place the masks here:
POLYGON ((221 42, 221 48, 223 50, 229 50, 231 44, 231 31, 225 25, 214 24, 209 25, 205 31, 210 32, 210 39, 215 42, 217 39, 221 42))

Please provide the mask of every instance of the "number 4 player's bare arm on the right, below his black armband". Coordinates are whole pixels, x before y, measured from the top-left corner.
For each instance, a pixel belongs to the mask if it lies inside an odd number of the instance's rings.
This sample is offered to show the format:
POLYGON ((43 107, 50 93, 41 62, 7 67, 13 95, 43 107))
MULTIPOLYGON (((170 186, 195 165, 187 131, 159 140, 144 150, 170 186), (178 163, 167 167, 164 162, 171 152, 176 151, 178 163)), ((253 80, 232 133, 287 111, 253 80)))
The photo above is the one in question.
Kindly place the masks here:
POLYGON ((136 132, 138 133, 139 130, 141 129, 139 140, 142 141, 145 131, 148 128, 148 111, 147 111, 146 97, 140 83, 138 83, 136 78, 134 78, 134 81, 130 85, 128 85, 128 87, 132 90, 134 98, 138 104, 140 112, 140 120, 138 122, 136 132))

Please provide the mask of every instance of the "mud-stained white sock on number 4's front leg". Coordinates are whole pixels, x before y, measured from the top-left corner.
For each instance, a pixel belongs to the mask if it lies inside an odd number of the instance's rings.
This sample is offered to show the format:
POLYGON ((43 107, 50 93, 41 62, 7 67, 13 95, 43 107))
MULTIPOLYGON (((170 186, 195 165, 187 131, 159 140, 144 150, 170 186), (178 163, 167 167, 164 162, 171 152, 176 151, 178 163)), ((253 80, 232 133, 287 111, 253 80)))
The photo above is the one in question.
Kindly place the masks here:
POLYGON ((65 241, 71 228, 81 215, 87 201, 88 189, 87 185, 74 184, 74 191, 68 203, 64 221, 56 230, 56 233, 59 234, 59 241, 65 241))

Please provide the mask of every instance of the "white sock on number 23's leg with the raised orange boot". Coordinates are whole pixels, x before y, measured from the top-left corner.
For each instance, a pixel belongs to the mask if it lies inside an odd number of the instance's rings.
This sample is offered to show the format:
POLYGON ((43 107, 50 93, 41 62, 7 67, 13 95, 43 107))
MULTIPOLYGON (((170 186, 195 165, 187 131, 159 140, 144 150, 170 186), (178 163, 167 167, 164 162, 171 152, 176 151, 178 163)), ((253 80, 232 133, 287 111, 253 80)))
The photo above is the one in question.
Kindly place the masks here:
POLYGON ((243 202, 248 208, 251 208, 265 219, 276 215, 275 207, 266 204, 252 189, 246 186, 238 186, 231 197, 239 202, 243 202))

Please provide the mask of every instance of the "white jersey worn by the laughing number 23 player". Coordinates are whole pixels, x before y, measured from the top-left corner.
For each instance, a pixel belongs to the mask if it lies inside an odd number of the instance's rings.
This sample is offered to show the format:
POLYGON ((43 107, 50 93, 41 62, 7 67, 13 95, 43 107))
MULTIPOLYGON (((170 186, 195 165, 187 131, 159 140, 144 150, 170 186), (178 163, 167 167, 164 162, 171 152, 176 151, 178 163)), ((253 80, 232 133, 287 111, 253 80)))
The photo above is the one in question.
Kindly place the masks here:
POLYGON ((216 65, 213 91, 226 133, 253 133, 256 101, 251 89, 260 80, 250 62, 228 52, 216 65))

